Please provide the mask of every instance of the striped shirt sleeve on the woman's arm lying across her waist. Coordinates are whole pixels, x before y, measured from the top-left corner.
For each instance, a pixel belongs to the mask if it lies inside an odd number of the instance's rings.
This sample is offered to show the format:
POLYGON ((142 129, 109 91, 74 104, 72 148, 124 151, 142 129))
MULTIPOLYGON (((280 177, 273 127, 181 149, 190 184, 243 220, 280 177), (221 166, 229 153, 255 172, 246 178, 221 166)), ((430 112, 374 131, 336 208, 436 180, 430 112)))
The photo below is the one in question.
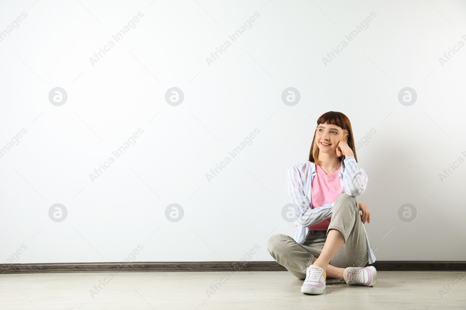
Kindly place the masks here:
POLYGON ((320 208, 311 208, 311 203, 304 193, 304 181, 302 173, 296 166, 288 170, 288 194, 291 202, 296 205, 296 220, 303 227, 319 224, 320 222, 331 218, 333 204, 324 204, 320 208))

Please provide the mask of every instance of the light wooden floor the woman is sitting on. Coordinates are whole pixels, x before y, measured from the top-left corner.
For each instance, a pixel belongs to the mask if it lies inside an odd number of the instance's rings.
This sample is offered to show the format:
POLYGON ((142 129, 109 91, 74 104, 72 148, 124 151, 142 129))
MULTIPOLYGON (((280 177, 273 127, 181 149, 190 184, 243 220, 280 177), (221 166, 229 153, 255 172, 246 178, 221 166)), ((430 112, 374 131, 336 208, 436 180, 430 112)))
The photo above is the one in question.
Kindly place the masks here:
POLYGON ((439 293, 466 272, 379 271, 374 287, 332 286, 336 279, 328 279, 322 295, 301 293, 303 280, 288 271, 229 274, 231 278, 210 298, 206 290, 226 272, 114 273, 94 298, 89 290, 109 272, 3 274, 0 309, 466 309, 466 278, 456 280, 459 284, 443 299, 439 293))

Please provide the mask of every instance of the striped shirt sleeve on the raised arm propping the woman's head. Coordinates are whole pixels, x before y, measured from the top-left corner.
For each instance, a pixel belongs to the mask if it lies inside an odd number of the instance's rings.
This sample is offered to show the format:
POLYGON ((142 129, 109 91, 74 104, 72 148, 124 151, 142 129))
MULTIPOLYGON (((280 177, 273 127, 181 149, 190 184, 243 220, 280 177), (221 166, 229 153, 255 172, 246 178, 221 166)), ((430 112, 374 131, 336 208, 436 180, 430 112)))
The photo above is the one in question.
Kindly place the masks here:
POLYGON ((359 168, 353 156, 344 159, 343 191, 349 196, 361 195, 367 186, 367 173, 359 168))

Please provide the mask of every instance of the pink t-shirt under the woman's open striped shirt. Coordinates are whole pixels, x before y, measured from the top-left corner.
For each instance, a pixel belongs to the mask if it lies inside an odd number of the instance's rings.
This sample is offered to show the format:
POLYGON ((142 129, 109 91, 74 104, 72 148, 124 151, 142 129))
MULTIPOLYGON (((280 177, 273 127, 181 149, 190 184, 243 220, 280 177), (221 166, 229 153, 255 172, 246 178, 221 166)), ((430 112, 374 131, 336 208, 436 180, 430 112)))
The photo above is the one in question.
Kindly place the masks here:
MULTIPOLYGON (((315 175, 311 183, 311 209, 322 207, 324 204, 331 204, 336 201, 338 195, 343 194, 340 185, 339 168, 332 174, 325 174, 319 165, 315 165, 315 175)), ((329 229, 330 220, 326 220, 309 226, 310 231, 324 231, 329 229)))

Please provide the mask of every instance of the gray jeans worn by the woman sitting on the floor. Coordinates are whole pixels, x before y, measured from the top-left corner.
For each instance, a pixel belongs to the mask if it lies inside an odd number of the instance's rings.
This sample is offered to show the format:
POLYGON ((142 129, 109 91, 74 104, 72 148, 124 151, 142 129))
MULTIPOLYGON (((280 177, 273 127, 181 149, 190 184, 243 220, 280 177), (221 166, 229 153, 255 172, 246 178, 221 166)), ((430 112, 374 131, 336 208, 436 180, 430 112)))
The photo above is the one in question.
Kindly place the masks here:
POLYGON ((267 241, 267 251, 295 277, 305 279, 306 269, 314 257, 319 257, 330 229, 340 231, 345 242, 329 264, 339 268, 364 267, 369 258, 363 222, 356 197, 347 193, 336 198, 326 231, 308 231, 303 244, 298 244, 290 236, 275 234, 267 241))

